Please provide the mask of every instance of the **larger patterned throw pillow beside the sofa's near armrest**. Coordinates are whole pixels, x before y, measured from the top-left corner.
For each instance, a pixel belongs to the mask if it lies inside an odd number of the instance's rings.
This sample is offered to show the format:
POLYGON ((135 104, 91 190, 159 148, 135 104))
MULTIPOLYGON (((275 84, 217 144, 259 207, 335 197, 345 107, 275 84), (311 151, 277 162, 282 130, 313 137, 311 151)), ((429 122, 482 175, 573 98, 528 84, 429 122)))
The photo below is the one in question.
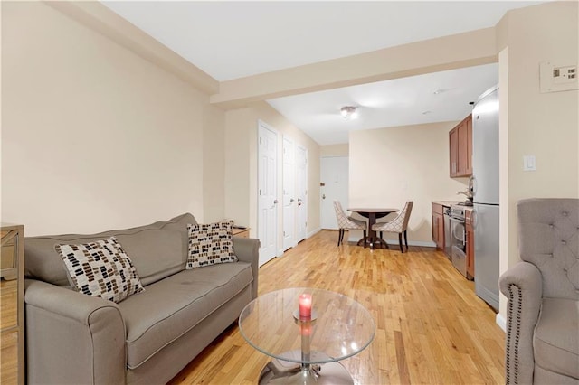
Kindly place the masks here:
POLYGON ((56 245, 80 293, 119 303, 145 288, 119 241, 111 237, 81 245, 56 245))

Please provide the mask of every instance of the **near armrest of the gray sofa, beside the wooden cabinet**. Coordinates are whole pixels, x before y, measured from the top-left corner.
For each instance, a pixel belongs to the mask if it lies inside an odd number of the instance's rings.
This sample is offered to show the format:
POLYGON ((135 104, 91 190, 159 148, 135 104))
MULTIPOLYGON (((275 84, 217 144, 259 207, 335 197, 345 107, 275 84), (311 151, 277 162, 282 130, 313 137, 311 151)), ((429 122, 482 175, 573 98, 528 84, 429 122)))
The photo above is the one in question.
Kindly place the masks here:
POLYGON ((119 306, 62 286, 25 280, 27 382, 124 384, 119 306))

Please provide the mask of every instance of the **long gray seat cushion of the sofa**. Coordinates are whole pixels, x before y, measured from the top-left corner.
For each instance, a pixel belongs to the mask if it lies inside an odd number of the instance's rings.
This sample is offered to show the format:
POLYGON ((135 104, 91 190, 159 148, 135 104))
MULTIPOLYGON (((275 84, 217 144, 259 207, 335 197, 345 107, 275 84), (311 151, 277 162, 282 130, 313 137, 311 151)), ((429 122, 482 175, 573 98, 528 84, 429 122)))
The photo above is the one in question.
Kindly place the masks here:
POLYGON ((135 369, 251 285, 252 265, 183 270, 119 304, 127 326, 127 365, 135 369))

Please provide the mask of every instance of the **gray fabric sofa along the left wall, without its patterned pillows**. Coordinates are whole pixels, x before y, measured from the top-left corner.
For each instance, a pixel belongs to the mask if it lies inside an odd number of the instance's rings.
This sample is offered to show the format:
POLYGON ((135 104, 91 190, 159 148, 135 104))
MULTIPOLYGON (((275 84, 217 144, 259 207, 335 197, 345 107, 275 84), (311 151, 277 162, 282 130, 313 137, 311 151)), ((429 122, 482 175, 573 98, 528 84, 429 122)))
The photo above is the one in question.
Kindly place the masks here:
POLYGON ((257 296, 259 240, 236 263, 185 270, 191 214, 127 230, 24 240, 28 383, 162 384, 257 296), (145 291, 115 304, 71 289, 57 243, 116 237, 145 291))

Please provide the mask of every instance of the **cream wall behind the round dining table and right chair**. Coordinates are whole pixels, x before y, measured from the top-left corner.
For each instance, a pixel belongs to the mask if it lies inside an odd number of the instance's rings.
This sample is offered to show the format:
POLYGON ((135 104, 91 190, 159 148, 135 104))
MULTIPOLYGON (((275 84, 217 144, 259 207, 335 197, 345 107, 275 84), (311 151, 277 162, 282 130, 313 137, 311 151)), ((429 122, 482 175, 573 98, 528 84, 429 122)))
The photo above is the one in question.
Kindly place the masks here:
POLYGON ((457 123, 350 133, 350 206, 402 209, 413 201, 408 243, 434 246, 432 201, 460 201, 456 192, 467 185, 449 177, 449 131, 457 123))

